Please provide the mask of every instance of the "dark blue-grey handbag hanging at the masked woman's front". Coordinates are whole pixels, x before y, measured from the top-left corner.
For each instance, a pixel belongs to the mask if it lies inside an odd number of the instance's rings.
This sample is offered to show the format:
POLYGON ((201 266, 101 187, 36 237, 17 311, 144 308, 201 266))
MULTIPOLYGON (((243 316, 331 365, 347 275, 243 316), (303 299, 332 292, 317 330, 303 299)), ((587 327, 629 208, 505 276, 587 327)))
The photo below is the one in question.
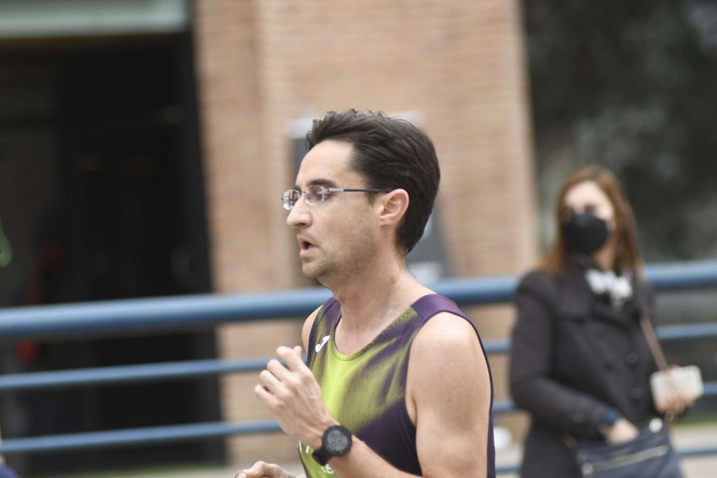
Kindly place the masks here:
POLYGON ((578 441, 575 458, 583 478, 682 478, 668 428, 659 418, 626 443, 578 441))

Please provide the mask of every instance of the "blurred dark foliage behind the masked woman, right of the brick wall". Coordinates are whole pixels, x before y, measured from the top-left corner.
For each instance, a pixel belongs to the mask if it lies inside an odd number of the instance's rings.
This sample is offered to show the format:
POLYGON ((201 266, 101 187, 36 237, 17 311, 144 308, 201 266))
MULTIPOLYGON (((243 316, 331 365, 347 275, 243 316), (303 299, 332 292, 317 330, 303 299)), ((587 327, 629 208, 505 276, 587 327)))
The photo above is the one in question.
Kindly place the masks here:
POLYGON ((625 186, 647 261, 716 257, 717 2, 523 6, 543 197, 600 164, 625 186))

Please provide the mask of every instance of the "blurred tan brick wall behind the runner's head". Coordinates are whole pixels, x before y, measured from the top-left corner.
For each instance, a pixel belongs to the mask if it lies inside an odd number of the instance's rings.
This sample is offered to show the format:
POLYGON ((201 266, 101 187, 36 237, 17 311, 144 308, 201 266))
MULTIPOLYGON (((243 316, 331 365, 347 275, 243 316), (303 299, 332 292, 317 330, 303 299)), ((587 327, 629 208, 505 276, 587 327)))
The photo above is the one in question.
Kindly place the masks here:
MULTIPOLYGON (((303 283, 279 202, 293 184, 288 123, 349 107, 422 118, 441 161, 441 226, 457 275, 530 265, 533 169, 518 1, 195 0, 194 9, 219 292, 303 283)), ((511 325, 506 307, 473 317, 485 337, 511 325)), ((223 327, 220 350, 270 354, 297 343, 299 326, 223 327)), ((503 382, 504 365, 493 367, 503 382)), ((268 416, 254 383, 224 380, 227 419, 268 416)), ((294 454, 280 436, 232 439, 229 449, 242 463, 294 454)))

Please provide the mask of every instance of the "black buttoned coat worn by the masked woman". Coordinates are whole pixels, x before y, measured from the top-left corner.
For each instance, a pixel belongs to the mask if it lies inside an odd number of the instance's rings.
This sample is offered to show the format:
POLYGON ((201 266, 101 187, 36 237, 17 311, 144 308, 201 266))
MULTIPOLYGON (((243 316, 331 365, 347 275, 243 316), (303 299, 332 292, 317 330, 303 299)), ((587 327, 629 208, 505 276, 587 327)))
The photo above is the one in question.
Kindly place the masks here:
POLYGON ((654 319, 652 292, 633 283, 621 309, 595 296, 581 266, 563 276, 535 271, 516 292, 511 393, 531 414, 523 477, 579 477, 564 439, 602 439, 607 408, 642 426, 657 415, 650 373, 657 369, 638 319, 654 319))

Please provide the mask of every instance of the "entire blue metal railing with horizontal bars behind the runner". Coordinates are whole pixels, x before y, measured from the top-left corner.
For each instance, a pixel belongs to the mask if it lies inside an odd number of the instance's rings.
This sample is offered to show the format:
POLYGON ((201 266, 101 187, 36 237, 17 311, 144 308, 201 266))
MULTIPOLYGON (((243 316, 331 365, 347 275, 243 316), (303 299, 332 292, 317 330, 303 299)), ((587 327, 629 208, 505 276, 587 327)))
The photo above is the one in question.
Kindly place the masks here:
MULTIPOLYGON (((653 264, 645 268, 645 276, 657 291, 715 287, 717 261, 653 264)), ((516 284, 517 279, 513 277, 452 278, 432 284, 432 289, 461 305, 485 305, 509 301, 516 284)), ((160 329, 196 329, 227 322, 305 317, 328 296, 329 292, 326 289, 311 288, 238 296, 181 296, 0 309, 0 337, 56 339, 67 336, 98 336, 160 329)), ((658 333, 661 340, 717 337, 717 323, 660 327, 658 333)), ((497 340, 486 342, 485 347, 488 353, 495 354, 508 352, 510 345, 505 340, 497 340)), ((193 360, 4 375, 0 376, 0 391, 134 383, 252 372, 262 370, 266 361, 267 358, 263 357, 248 360, 193 360)), ((705 392, 706 395, 717 395, 717 383, 706 383, 705 392)), ((510 400, 500 400, 495 403, 494 413, 507 413, 515 409, 510 400)), ((0 444, 0 454, 165 443, 275 431, 280 431, 280 428, 273 421, 195 423, 97 431, 8 439, 0 444)), ((715 454, 717 447, 683 450, 680 453, 684 456, 715 454)), ((500 472, 512 472, 516 469, 516 465, 500 467, 500 472)))

